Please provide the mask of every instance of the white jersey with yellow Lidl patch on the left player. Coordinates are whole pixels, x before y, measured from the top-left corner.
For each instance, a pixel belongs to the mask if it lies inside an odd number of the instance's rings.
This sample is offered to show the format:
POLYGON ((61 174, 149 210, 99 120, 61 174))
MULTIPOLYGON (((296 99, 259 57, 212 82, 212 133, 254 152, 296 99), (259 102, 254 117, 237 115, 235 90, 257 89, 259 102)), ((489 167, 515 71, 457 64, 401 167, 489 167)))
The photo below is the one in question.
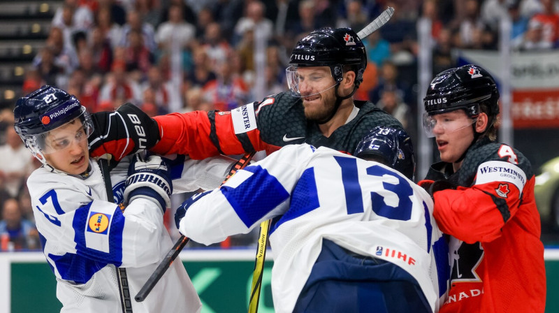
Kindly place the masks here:
MULTIPOLYGON (((122 203, 126 161, 111 171, 117 203, 122 203)), ((224 158, 180 162, 173 176, 184 179, 173 180, 174 191, 218 187, 231 164, 224 158)), ((180 261, 170 265, 143 302, 133 300, 173 242, 154 201, 137 198, 122 213, 113 199, 107 201, 97 163, 89 165, 87 177, 43 166, 27 181, 41 247, 57 278, 61 312, 122 312, 115 266, 126 268, 133 312, 200 312, 201 301, 180 261)))

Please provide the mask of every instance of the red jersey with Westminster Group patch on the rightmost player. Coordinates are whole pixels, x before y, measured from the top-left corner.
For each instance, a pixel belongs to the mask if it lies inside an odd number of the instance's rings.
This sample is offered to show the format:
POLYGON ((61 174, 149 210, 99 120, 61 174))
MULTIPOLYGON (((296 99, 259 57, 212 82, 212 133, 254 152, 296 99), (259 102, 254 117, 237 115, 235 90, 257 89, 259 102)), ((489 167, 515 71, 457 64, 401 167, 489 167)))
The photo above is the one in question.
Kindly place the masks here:
POLYGON ((482 139, 456 173, 445 173, 449 168, 436 163, 426 177, 457 186, 434 194, 433 215, 453 236, 451 288, 440 312, 544 312, 544 246, 530 162, 482 139))

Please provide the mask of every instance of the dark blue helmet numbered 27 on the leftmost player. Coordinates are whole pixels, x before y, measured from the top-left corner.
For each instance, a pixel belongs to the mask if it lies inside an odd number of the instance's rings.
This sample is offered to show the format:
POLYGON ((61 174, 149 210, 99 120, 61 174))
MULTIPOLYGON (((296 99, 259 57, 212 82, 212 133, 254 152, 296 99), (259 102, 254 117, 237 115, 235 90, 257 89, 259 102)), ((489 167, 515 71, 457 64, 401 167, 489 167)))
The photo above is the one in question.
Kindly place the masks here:
POLYGON ((80 118, 87 136, 93 131, 92 120, 80 101, 64 90, 48 85, 18 99, 13 115, 16 133, 43 163, 43 154, 49 153, 45 136, 50 131, 77 118, 80 118))

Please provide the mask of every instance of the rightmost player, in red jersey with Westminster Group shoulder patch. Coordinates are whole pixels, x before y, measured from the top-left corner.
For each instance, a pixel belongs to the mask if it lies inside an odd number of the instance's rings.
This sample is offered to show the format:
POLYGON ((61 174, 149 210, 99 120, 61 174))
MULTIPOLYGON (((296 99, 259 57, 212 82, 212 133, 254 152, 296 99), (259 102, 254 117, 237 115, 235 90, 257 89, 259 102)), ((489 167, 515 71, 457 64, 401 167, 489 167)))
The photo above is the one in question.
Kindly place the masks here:
POLYGON ((419 184, 451 235, 451 289, 440 312, 544 312, 534 173, 521 152, 495 142, 498 99, 491 75, 466 65, 437 75, 423 100, 423 126, 442 161, 419 184))

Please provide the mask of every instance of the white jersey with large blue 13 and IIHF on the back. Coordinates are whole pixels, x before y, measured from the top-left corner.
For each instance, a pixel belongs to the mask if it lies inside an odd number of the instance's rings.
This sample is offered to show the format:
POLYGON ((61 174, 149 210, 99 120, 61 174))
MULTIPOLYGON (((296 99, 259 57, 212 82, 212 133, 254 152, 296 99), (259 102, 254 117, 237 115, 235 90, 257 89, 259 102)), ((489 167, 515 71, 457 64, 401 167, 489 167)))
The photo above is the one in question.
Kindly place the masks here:
POLYGON ((293 311, 323 238, 409 272, 433 312, 446 297, 448 249, 433 219, 433 201, 380 163, 327 147, 289 145, 192 201, 180 232, 205 245, 273 219, 276 312, 293 311))

